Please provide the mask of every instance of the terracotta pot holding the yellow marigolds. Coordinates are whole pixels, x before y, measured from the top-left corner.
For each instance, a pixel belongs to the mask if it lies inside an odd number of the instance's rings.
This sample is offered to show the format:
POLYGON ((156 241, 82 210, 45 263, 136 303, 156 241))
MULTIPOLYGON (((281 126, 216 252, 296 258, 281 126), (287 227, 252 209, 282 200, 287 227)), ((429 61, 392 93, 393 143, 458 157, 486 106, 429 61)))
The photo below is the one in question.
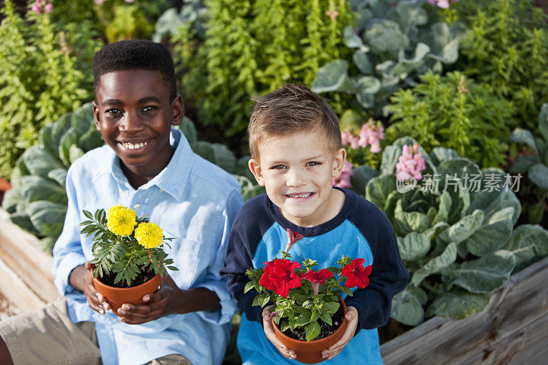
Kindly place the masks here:
POLYGON ((158 287, 162 283, 162 277, 157 274, 145 284, 134 286, 132 288, 115 288, 114 286, 108 286, 103 284, 99 279, 93 278, 93 285, 99 293, 105 297, 107 303, 110 304, 110 308, 116 316, 118 316, 118 308, 123 303, 130 304, 142 304, 142 296, 145 294, 151 294, 158 290, 158 287))

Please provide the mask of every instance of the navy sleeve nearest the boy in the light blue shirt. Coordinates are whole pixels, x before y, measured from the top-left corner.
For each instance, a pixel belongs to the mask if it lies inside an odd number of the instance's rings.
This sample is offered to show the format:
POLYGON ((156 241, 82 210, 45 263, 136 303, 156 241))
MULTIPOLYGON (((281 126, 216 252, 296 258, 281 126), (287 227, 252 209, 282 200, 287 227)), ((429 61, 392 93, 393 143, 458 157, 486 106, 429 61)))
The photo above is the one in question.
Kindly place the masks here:
POLYGON ((259 293, 255 289, 244 293, 245 284, 249 278, 245 271, 253 268, 253 255, 257 249, 262 234, 272 224, 266 218, 262 205, 266 205, 266 194, 247 201, 232 226, 225 253, 225 267, 221 275, 227 278, 227 288, 236 299, 238 309, 245 313, 249 320, 256 320, 262 325, 262 307, 251 305, 259 293))

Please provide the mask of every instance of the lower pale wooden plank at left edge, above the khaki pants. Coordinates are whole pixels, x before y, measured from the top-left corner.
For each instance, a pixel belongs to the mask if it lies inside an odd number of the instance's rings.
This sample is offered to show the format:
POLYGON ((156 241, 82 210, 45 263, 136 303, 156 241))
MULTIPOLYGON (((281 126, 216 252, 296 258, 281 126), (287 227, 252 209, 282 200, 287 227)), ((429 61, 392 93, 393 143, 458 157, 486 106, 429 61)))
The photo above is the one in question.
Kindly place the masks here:
POLYGON ((0 259, 0 291, 18 310, 27 312, 42 307, 45 302, 34 294, 20 277, 0 259))

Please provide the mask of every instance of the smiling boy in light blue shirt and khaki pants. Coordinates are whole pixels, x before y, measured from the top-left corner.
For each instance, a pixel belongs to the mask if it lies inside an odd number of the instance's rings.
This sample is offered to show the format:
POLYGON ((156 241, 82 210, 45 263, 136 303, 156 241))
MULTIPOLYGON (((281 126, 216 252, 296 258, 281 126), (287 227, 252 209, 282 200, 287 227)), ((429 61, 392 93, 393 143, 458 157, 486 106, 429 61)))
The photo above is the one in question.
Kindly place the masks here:
POLYGON ((220 364, 235 305, 219 270, 242 205, 238 183, 171 129, 184 107, 165 47, 116 42, 95 55, 93 69, 94 120, 106 145, 77 160, 66 177, 69 207, 53 249, 64 299, 3 320, 0 363, 220 364), (179 268, 145 304, 123 305, 121 317, 92 285, 92 242, 79 233, 82 210, 112 205, 147 214, 175 238, 166 252, 179 268), (89 346, 81 345, 85 339, 75 345, 84 327, 89 346))

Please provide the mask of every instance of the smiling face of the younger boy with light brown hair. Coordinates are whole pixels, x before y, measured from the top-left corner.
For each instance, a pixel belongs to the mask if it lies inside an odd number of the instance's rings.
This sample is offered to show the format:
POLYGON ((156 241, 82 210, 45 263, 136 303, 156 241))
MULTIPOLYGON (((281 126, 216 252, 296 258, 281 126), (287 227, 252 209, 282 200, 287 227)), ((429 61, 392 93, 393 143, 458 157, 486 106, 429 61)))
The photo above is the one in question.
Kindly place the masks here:
POLYGON ((288 221, 314 227, 338 213, 332 178, 339 177, 345 149, 334 152, 321 134, 269 138, 258 146, 249 169, 288 221))

